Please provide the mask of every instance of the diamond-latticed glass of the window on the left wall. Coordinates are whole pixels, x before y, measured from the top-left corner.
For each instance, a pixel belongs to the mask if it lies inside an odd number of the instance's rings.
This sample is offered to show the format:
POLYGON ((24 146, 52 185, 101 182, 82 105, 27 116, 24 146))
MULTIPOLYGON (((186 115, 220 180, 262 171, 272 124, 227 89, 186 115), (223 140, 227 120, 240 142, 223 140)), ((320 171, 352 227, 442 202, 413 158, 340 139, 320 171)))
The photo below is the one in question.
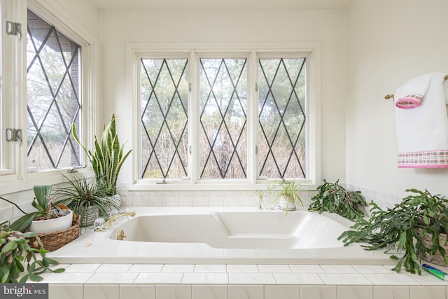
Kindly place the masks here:
MULTIPOLYGON (((80 46, 28 11, 28 167, 80 165, 71 136, 80 122, 80 46)), ((78 131, 79 132, 79 131, 78 131)))

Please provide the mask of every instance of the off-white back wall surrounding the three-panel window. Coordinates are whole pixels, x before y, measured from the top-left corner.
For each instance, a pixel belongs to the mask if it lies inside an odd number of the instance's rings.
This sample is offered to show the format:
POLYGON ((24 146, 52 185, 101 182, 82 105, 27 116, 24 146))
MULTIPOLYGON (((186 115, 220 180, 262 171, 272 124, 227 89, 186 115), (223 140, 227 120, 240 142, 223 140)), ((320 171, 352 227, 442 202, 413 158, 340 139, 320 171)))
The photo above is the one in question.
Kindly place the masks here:
MULTIPOLYGON (((127 43, 276 41, 321 43, 321 176, 344 181, 346 11, 103 11, 102 118, 116 113, 120 139, 132 144, 133 99, 125 90, 127 43)), ((119 181, 130 179, 131 161, 119 181)))

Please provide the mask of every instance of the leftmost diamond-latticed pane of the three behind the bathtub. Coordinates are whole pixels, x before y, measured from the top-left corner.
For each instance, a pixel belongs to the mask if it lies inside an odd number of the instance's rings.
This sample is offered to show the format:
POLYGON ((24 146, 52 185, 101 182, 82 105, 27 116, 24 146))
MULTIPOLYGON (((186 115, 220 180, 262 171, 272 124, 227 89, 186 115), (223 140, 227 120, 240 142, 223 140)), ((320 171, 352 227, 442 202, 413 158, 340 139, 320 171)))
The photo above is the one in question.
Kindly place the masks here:
POLYGON ((141 60, 141 177, 188 176, 187 59, 141 60))

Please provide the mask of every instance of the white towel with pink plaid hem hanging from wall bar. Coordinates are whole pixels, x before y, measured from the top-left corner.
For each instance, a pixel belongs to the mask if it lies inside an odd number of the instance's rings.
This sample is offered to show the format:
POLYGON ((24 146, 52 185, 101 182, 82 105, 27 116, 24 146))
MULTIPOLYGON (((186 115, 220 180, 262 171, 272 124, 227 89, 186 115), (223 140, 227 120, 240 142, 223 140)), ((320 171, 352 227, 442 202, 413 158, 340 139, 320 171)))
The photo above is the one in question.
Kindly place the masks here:
MULTIPOLYGON (((448 167, 448 115, 442 73, 433 73, 412 79, 395 90, 396 102, 409 99, 408 95, 424 90, 422 78, 430 78, 428 88, 414 109, 400 107, 395 102, 395 122, 398 139, 398 167, 447 168, 448 167), (417 80, 418 79, 418 80, 417 80), (416 84, 412 85, 412 82, 416 84)), ((412 102, 412 101, 409 101, 412 102)))

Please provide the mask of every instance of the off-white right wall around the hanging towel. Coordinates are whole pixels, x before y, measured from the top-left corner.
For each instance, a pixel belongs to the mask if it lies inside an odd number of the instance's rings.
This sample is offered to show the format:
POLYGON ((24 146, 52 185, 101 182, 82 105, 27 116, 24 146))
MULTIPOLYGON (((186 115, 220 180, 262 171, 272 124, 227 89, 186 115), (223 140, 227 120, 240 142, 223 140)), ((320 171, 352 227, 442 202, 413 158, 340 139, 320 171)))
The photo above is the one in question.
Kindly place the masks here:
POLYGON ((348 183, 402 196, 448 195, 448 169, 398 169, 393 102, 410 78, 448 71, 448 1, 355 0, 348 11, 348 183))

